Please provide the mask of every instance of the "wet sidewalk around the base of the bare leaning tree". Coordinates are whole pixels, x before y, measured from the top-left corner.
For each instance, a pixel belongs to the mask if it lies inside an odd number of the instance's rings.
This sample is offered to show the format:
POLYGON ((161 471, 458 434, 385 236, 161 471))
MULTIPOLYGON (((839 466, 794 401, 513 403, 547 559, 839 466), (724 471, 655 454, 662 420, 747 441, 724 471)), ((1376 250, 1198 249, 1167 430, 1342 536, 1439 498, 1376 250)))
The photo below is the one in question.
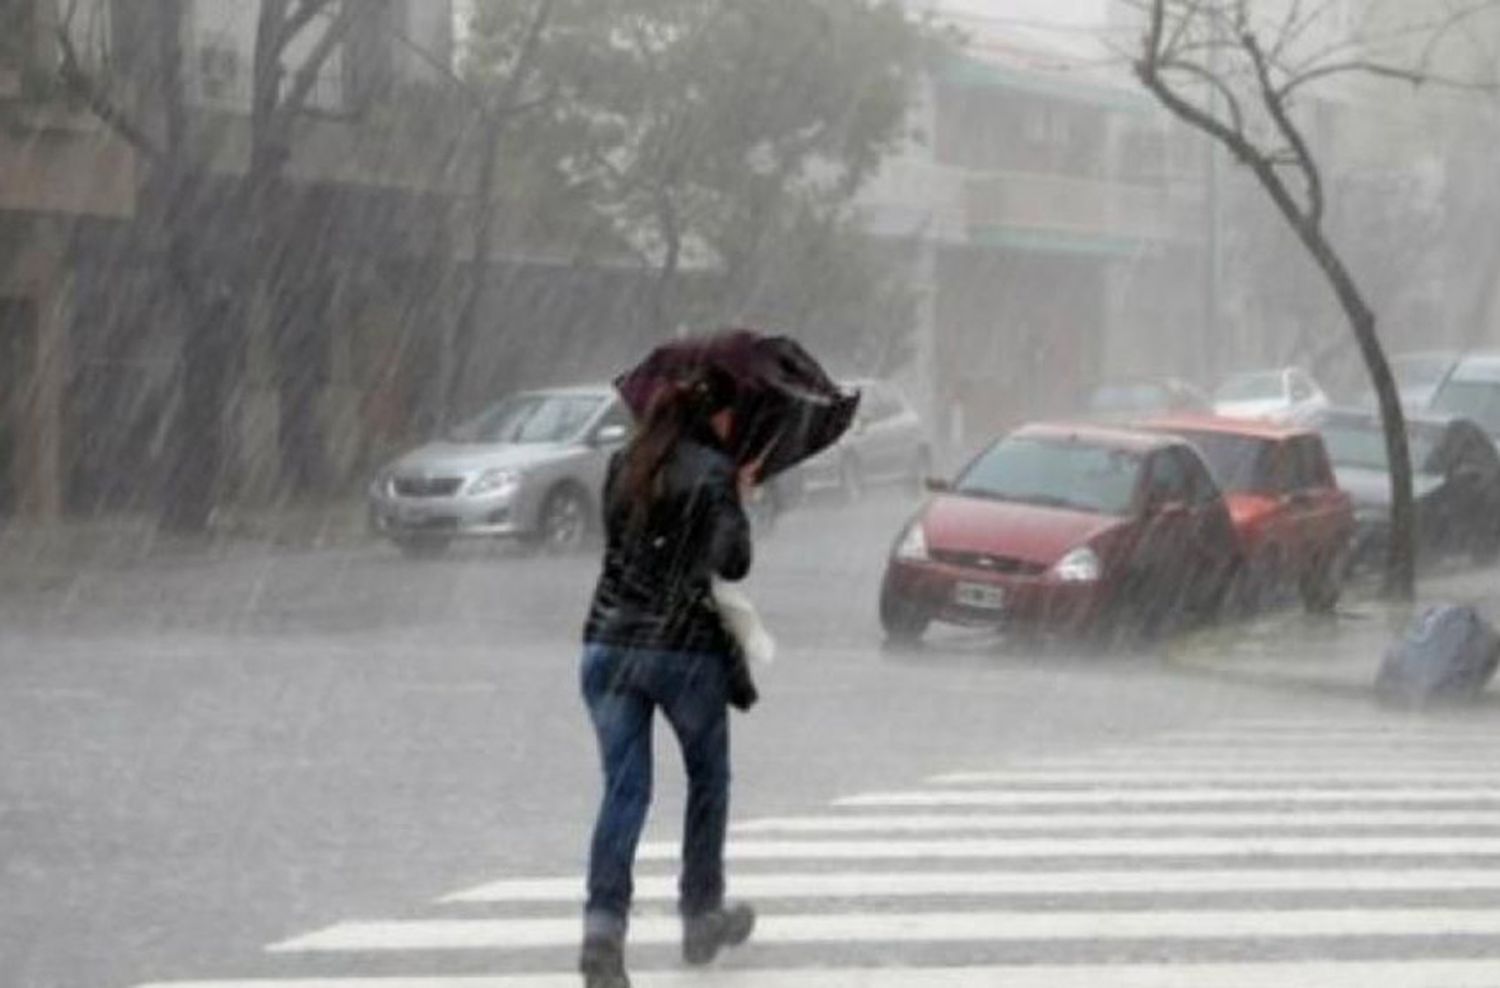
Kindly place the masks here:
POLYGON ((1382 601, 1350 591, 1332 616, 1290 607, 1252 621, 1196 631, 1167 646, 1167 663, 1190 672, 1368 697, 1386 649, 1412 618, 1432 603, 1476 604, 1500 625, 1500 570, 1426 576, 1418 601, 1382 601))

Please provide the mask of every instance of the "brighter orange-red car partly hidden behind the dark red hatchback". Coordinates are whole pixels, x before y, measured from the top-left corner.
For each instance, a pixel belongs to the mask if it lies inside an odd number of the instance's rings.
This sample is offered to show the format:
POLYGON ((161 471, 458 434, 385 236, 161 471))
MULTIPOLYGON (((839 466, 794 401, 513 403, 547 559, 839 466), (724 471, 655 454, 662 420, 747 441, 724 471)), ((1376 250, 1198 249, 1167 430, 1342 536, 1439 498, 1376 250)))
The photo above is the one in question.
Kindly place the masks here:
POLYGON ((1292 585, 1308 610, 1338 604, 1354 507, 1338 489, 1317 432, 1212 415, 1142 427, 1186 439, 1203 454, 1234 519, 1248 604, 1260 606, 1292 585))

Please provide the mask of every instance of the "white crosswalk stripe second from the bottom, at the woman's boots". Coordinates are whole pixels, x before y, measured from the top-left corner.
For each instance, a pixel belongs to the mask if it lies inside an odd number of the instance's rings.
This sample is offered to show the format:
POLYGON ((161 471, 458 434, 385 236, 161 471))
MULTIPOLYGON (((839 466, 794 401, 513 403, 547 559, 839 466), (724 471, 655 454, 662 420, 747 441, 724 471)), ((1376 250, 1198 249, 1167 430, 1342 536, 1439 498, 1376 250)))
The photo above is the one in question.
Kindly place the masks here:
MULTIPOLYGON (((276 954, 392 951, 524 951, 578 943, 567 919, 412 919, 345 922, 267 948, 276 954)), ((1490 909, 1294 909, 1119 912, 921 912, 768 915, 756 943, 1014 943, 1056 940, 1228 940, 1318 937, 1500 936, 1490 909)), ((630 943, 675 945, 675 916, 639 916, 630 943)))

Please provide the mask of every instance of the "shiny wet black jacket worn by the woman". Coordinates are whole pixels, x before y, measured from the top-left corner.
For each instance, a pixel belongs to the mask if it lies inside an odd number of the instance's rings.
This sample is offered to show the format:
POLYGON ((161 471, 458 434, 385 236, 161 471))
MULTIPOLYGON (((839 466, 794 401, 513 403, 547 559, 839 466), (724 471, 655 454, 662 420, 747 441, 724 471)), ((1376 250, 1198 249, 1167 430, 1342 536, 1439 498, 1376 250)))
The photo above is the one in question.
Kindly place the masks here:
POLYGON ((750 522, 735 463, 710 436, 669 454, 662 493, 644 519, 616 496, 622 453, 604 483, 604 568, 594 591, 586 642, 736 657, 710 601, 710 577, 750 571, 750 522))

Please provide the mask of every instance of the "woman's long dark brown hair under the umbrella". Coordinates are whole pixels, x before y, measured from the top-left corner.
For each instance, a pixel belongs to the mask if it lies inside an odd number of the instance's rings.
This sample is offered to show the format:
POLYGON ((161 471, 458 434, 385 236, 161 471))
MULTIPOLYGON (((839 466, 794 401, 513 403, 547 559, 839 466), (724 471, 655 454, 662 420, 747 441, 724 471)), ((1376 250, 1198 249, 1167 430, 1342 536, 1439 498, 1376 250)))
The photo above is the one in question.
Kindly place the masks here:
POLYGON ((660 492, 662 468, 686 436, 702 435, 716 414, 735 402, 735 381, 718 367, 696 369, 652 399, 624 451, 616 496, 642 517, 660 492))

